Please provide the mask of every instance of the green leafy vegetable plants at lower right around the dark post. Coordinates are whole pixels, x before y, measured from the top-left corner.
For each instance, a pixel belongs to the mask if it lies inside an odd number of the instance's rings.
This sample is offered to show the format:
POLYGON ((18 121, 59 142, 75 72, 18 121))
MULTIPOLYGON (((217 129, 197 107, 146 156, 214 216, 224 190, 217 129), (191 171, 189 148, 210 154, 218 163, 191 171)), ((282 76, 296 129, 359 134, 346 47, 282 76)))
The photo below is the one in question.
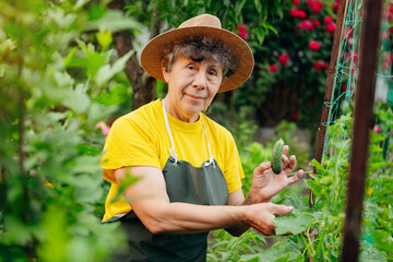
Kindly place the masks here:
MULTIPOLYGON (((380 130, 393 128, 393 115, 389 106, 378 105, 376 115, 380 130)), ((290 235, 264 237, 251 229, 233 240, 228 234, 218 230, 211 240, 211 261, 218 261, 221 255, 235 258, 237 261, 338 261, 343 242, 352 126, 350 114, 342 116, 335 124, 330 126, 329 150, 322 163, 314 159, 310 163, 315 167, 317 174, 310 174, 312 179, 306 179, 305 182, 314 195, 312 209, 309 207, 308 195, 302 195, 301 191, 287 189, 272 199, 274 203, 295 207, 291 215, 274 219, 277 235, 290 235), (231 241, 237 241, 239 247, 228 246, 231 241)), ((393 258, 393 144, 385 140, 391 135, 390 132, 371 133, 360 261, 392 261, 393 258), (385 143, 389 144, 385 146, 385 143), (385 157, 382 154, 383 147, 388 147, 385 157)), ((252 151, 246 158, 261 159, 263 152, 270 157, 270 150, 259 146, 260 144, 252 144, 255 152, 252 151), (260 150, 259 153, 257 148, 260 150)))

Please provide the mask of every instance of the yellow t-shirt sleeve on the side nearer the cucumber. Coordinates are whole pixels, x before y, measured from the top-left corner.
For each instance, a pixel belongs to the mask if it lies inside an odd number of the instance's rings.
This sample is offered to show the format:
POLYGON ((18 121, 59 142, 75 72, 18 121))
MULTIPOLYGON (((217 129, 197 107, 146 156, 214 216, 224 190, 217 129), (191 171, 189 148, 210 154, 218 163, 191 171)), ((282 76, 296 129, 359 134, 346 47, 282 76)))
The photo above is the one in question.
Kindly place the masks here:
POLYGON ((229 193, 235 192, 241 188, 241 179, 245 178, 245 171, 241 166, 239 152, 236 146, 234 136, 229 133, 229 131, 227 135, 227 151, 224 176, 227 181, 229 193))

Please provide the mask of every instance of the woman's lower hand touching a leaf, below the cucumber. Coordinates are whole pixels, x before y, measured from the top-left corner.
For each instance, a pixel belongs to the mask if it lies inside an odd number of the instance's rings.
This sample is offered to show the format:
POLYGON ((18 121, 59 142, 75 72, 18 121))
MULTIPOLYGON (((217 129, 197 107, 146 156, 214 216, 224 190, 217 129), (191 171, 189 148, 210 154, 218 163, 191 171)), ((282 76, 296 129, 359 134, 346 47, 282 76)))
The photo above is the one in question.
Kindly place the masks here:
POLYGON ((275 225, 273 224, 275 215, 287 215, 294 211, 293 206, 273 203, 253 204, 248 207, 245 223, 266 236, 275 235, 275 225))

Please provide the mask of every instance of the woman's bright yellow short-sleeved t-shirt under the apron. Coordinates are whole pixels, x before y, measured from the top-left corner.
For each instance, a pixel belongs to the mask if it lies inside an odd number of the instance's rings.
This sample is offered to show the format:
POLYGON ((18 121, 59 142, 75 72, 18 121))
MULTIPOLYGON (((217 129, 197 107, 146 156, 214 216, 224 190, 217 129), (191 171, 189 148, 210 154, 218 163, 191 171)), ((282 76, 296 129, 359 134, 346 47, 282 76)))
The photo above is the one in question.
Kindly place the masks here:
MULTIPOLYGON (((240 189, 245 177, 239 153, 229 131, 201 114, 204 120, 212 155, 227 182, 229 193, 240 189)), ((201 118, 193 123, 183 122, 168 114, 178 160, 200 167, 209 160, 207 142, 201 118)), ((127 166, 152 166, 163 170, 168 157, 170 140, 166 130, 160 99, 117 119, 107 136, 102 159, 103 178, 111 182, 105 203, 107 221, 114 215, 131 211, 124 199, 111 201, 118 193, 114 171, 127 166)))

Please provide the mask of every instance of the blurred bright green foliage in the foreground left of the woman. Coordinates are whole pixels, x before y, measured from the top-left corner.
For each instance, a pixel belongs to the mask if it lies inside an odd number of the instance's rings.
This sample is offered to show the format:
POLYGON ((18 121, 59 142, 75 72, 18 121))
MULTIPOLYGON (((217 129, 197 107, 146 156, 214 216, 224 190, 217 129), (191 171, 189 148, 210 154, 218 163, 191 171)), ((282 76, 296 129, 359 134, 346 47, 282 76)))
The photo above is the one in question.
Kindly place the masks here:
POLYGON ((140 24, 107 1, 0 3, 0 261, 105 261, 105 136, 130 86, 112 29, 140 24))

